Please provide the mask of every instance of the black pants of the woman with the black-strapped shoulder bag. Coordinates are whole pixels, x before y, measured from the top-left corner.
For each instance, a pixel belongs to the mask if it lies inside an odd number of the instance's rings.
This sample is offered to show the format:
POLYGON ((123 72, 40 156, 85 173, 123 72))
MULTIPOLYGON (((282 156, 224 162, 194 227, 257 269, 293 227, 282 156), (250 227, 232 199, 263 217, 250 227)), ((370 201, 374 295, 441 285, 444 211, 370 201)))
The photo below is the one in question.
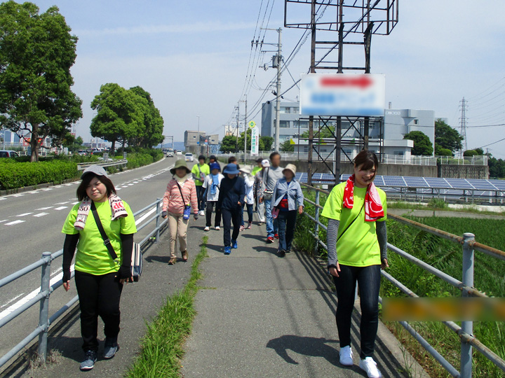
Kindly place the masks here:
POLYGON ((81 336, 84 351, 98 350, 98 316, 104 322, 105 336, 117 339, 119 334, 119 300, 123 285, 116 272, 95 276, 75 272, 79 307, 81 307, 81 336))

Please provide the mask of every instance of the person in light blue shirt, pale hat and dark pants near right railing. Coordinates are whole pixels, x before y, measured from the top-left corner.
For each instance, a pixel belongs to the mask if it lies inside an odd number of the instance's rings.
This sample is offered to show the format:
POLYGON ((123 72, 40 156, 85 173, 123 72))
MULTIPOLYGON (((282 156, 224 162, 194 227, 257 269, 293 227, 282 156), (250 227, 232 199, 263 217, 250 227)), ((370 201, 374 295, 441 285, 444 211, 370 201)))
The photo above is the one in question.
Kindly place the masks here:
POLYGON ((295 165, 286 165, 283 175, 284 177, 277 181, 271 199, 271 211, 274 215, 277 214, 278 255, 281 257, 291 251, 297 214, 302 214, 304 209, 302 187, 295 180, 295 165))

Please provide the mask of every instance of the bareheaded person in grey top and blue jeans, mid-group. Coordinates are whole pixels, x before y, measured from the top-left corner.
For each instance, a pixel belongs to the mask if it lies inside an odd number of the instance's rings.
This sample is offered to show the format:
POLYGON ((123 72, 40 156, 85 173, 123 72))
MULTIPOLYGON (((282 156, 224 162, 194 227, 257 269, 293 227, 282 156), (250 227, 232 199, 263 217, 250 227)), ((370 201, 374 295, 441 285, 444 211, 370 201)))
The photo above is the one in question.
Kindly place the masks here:
POLYGON ((274 193, 275 184, 278 179, 283 176, 283 169, 279 167, 281 164, 281 154, 273 152, 270 154, 270 167, 265 169, 263 175, 263 186, 260 197, 260 202, 264 202, 265 215, 267 218, 267 243, 273 243, 274 239, 278 239, 277 220, 271 215, 271 196, 274 193))

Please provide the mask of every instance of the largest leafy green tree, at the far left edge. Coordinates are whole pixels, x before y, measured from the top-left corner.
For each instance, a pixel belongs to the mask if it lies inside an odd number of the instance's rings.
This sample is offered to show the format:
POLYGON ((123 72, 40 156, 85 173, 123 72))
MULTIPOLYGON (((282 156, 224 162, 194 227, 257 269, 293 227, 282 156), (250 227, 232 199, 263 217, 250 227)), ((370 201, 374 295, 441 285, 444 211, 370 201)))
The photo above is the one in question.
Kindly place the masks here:
POLYGON ((56 6, 39 14, 34 3, 0 4, 0 123, 27 134, 30 160, 39 160, 41 139, 64 138, 81 118, 70 68, 77 37, 56 6))

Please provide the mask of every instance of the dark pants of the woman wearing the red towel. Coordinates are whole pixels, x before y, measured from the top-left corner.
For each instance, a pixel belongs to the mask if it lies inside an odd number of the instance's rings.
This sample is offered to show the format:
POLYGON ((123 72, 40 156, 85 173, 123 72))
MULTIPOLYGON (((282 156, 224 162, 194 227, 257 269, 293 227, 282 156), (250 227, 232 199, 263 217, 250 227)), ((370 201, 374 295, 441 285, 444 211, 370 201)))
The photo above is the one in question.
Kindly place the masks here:
POLYGON ((337 328, 340 348, 351 345, 351 314, 354 308, 356 282, 361 303, 361 358, 371 357, 379 323, 380 265, 351 267, 340 265, 339 277, 333 277, 337 288, 337 328))

